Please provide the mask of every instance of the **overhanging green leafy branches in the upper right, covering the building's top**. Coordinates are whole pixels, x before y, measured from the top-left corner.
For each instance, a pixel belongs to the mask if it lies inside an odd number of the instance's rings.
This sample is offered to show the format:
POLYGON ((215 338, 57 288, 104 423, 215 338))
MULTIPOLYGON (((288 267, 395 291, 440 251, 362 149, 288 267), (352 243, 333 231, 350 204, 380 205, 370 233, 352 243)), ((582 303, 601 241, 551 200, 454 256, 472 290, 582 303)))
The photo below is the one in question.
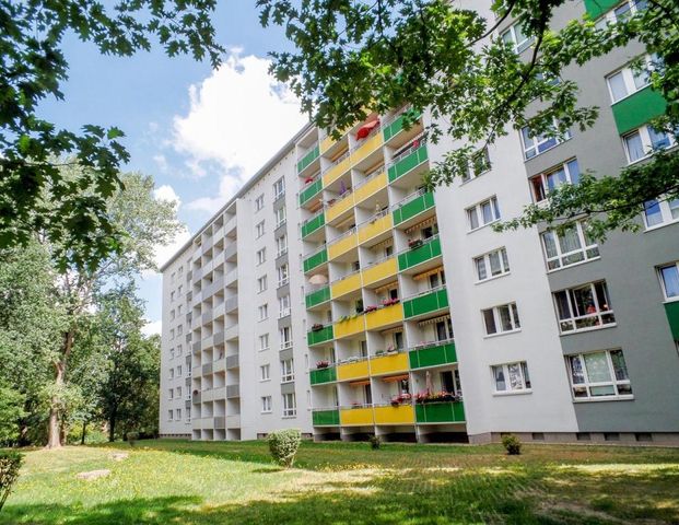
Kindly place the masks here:
MULTIPOLYGON (((667 105, 654 125, 679 129, 679 3, 637 0, 640 9, 616 23, 595 24, 586 15, 551 28, 554 11, 565 3, 495 0, 485 15, 447 0, 257 1, 262 25, 284 26, 295 46, 271 54, 272 71, 290 83, 315 124, 339 136, 370 112, 410 104, 415 112, 407 114, 407 126, 428 108, 429 140, 445 133, 461 141, 429 174, 432 187, 450 184, 479 144, 512 128, 560 137, 590 127, 598 108, 581 107, 578 86, 561 73, 633 40, 656 57, 651 83, 667 105), (532 42, 527 57, 491 36, 508 19, 532 42)), ((550 192, 548 207, 528 207, 500 228, 541 221, 565 228, 588 217, 593 237, 617 228, 636 230, 645 201, 679 197, 678 167, 678 155, 668 153, 621 174, 589 174, 578 186, 550 192)))

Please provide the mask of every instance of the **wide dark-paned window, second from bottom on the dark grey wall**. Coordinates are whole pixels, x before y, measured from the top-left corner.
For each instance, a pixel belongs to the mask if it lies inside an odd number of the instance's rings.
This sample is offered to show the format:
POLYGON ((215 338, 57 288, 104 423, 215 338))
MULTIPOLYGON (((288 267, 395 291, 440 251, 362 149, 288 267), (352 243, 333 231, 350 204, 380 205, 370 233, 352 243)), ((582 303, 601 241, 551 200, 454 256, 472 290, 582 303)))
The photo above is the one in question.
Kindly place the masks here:
POLYGON ((555 292, 554 302, 562 334, 604 328, 616 323, 606 281, 555 292))

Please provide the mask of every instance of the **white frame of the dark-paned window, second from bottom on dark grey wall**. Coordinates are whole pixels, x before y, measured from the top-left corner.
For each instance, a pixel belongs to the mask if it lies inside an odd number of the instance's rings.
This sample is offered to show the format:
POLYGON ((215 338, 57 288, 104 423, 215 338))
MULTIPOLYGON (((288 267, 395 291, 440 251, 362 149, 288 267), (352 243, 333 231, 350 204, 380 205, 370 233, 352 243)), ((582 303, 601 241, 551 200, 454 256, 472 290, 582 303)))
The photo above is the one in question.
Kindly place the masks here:
POLYGON ((552 301, 554 302, 554 312, 557 314, 557 323, 559 324, 559 332, 561 335, 570 335, 577 334, 582 331, 589 330, 600 330, 602 328, 610 328, 617 325, 616 323, 616 314, 611 305, 610 294, 608 292, 608 285, 605 280, 586 282, 584 284, 580 284, 577 287, 566 288, 564 290, 559 290, 552 293, 552 301), (605 294, 607 308, 602 310, 604 305, 599 304, 599 298, 596 293, 596 285, 602 284, 602 291, 605 294), (574 292, 577 290, 589 288, 592 294, 592 307, 594 311, 592 313, 585 313, 581 315, 576 315, 575 311, 575 302, 574 302, 574 292), (570 313, 570 317, 564 317, 563 319, 559 317, 559 301, 557 300, 557 295, 564 293, 566 299, 566 304, 570 313), (577 327, 578 323, 584 323, 585 325, 581 328, 577 327), (571 327, 571 328, 566 328, 571 327))

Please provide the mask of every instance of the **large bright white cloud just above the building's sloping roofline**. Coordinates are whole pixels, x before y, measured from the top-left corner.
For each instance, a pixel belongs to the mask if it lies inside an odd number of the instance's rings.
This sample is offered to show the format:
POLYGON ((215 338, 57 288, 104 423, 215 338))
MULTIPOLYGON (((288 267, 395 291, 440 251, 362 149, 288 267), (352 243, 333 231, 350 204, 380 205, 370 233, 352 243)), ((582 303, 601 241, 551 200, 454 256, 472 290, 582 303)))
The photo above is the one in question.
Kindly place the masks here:
POLYGON ((200 84, 189 88, 190 108, 175 116, 173 147, 197 176, 222 176, 216 196, 187 209, 213 212, 298 130, 306 117, 297 98, 268 73, 270 61, 233 50, 200 84))

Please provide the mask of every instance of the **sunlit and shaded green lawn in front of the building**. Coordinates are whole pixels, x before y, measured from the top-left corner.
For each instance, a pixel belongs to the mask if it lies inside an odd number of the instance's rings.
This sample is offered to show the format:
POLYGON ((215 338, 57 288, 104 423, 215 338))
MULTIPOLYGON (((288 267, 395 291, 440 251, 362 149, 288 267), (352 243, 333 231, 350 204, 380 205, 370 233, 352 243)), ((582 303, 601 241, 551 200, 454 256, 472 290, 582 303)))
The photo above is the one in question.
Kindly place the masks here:
POLYGON ((678 450, 524 448, 304 443, 291 470, 262 442, 28 451, 0 524, 679 523, 678 450))

